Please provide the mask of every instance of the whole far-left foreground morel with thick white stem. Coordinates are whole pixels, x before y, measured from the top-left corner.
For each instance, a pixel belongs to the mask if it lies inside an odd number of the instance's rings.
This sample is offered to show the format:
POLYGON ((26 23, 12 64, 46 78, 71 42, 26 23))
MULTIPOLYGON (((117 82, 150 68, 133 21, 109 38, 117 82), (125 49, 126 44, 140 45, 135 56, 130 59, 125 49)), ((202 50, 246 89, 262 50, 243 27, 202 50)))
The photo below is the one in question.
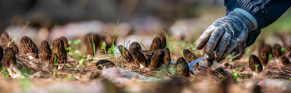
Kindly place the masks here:
POLYGON ((11 78, 20 78, 21 71, 16 67, 16 57, 12 48, 8 47, 3 58, 3 66, 7 69, 11 78))

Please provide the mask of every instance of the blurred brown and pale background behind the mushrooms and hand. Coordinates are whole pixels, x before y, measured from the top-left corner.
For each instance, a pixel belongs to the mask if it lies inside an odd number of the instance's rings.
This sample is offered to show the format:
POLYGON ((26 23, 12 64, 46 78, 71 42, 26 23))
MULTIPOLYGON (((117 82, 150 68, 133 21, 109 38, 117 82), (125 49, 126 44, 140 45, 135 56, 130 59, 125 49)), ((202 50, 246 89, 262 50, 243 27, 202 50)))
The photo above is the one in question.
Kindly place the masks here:
MULTIPOLYGON (((37 46, 42 40, 51 45, 61 36, 85 42, 91 31, 104 36, 104 42, 112 43, 107 33, 113 35, 120 19, 118 45, 123 44, 125 37, 125 42, 143 40, 143 45, 149 48, 153 37, 164 35, 172 54, 180 55, 180 50, 195 42, 212 22, 225 16, 223 4, 223 0, 1 0, 0 30, 10 33, 16 43, 23 36, 31 37, 37 46)), ((266 38, 271 45, 283 44, 277 37, 287 35, 285 44, 291 45, 290 30, 289 9, 262 29, 259 38, 266 38)), ((252 46, 258 46, 257 42, 252 46)))

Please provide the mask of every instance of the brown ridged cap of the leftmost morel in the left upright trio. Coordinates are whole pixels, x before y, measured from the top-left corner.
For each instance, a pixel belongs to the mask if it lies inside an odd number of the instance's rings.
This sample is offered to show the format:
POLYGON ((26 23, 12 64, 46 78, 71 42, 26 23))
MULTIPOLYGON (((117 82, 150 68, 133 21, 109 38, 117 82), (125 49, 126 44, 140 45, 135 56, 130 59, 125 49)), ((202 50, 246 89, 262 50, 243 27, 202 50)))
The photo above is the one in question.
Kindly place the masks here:
POLYGON ((21 38, 20 48, 23 54, 28 54, 28 53, 38 54, 38 49, 36 47, 36 44, 34 44, 33 41, 27 36, 24 36, 21 38))

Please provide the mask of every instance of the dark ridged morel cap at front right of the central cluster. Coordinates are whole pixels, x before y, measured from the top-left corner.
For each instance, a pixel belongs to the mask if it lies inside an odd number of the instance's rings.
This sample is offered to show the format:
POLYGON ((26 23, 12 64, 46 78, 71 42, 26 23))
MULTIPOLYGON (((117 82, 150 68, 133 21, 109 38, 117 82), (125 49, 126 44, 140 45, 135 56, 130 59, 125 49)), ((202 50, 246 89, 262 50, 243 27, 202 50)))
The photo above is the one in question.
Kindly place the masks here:
POLYGON ((162 49, 159 49, 156 51, 154 55, 152 55, 150 67, 152 68, 158 68, 160 67, 164 62, 165 52, 162 49))

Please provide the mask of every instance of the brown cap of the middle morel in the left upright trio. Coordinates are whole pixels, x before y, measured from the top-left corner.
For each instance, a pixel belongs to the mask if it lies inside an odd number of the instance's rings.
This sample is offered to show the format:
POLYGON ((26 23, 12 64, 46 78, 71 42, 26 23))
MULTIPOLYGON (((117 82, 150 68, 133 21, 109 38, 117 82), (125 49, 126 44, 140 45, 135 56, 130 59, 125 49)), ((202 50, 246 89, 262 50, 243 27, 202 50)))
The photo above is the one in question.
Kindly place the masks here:
POLYGON ((43 40, 40 45, 40 59, 48 61, 52 57, 52 49, 47 41, 43 40))

